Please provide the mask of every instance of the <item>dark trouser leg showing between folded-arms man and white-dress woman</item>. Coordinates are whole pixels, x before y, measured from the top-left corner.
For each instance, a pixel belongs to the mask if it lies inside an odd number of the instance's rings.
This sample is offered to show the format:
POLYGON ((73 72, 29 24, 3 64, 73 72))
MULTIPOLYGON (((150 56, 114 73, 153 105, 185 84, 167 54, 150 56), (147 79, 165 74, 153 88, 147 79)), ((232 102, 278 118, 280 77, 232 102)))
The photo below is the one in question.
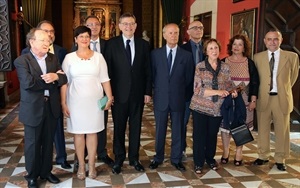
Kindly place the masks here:
POLYGON ((54 144, 56 150, 56 163, 61 164, 67 160, 63 114, 61 114, 57 120, 57 127, 54 136, 54 144))

